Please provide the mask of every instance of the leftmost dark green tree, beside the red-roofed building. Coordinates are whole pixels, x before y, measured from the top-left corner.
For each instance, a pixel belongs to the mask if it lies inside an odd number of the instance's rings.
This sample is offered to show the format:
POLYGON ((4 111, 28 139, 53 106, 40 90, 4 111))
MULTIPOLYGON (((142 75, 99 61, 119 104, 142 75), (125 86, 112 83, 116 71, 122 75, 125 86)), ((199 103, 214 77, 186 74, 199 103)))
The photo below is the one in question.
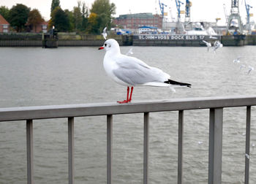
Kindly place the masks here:
POLYGON ((10 9, 10 24, 16 28, 16 31, 23 31, 26 21, 29 17, 30 8, 24 4, 16 4, 10 9))

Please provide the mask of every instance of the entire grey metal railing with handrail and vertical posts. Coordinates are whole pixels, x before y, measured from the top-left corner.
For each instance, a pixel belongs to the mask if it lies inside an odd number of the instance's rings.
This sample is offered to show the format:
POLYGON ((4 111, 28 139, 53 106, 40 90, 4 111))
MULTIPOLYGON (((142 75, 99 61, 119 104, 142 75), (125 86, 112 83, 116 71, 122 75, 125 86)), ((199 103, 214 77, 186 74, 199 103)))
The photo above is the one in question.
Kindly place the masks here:
POLYGON ((107 183, 112 183, 113 115, 144 113, 143 183, 148 183, 149 113, 178 111, 178 184, 183 183, 184 110, 209 109, 208 183, 222 183, 223 108, 246 107, 246 147, 244 183, 249 183, 249 147, 251 107, 256 96, 205 97, 142 101, 129 104, 72 104, 40 107, 0 108, 0 121, 26 120, 27 182, 33 180, 33 120, 67 118, 69 184, 74 183, 74 118, 94 115, 107 116, 107 183))

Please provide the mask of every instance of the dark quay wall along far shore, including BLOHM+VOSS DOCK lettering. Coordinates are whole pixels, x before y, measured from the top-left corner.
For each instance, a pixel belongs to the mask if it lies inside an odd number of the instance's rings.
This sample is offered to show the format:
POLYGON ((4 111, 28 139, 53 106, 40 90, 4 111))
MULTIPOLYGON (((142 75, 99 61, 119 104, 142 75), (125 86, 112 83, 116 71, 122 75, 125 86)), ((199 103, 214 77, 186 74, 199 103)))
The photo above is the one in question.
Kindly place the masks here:
MULTIPOLYGON (((105 42, 102 35, 59 34, 58 39, 45 37, 42 34, 0 34, 0 47, 79 47, 101 46, 105 42)), ((121 46, 184 46, 203 47, 203 40, 213 44, 217 39, 224 46, 256 45, 256 35, 167 35, 167 34, 138 34, 110 35, 121 46)))

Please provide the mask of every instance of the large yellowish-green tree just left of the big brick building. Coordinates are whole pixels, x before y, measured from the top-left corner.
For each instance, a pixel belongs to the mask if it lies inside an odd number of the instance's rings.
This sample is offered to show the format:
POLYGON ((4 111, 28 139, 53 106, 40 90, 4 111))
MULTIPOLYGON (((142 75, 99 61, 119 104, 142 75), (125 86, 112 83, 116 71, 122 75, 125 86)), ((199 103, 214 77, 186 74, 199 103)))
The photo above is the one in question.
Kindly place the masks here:
POLYGON ((109 0, 95 0, 91 5, 90 12, 97 15, 97 34, 99 34, 106 26, 110 28, 112 15, 116 14, 116 5, 110 4, 109 0))

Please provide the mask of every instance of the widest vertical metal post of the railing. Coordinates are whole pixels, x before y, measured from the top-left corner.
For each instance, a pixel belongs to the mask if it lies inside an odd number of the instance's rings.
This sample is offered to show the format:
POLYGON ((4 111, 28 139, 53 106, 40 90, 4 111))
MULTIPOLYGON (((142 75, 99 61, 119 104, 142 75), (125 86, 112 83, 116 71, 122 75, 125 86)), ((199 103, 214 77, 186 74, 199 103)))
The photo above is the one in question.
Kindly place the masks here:
POLYGON ((222 183, 223 108, 210 109, 208 184, 222 183))

